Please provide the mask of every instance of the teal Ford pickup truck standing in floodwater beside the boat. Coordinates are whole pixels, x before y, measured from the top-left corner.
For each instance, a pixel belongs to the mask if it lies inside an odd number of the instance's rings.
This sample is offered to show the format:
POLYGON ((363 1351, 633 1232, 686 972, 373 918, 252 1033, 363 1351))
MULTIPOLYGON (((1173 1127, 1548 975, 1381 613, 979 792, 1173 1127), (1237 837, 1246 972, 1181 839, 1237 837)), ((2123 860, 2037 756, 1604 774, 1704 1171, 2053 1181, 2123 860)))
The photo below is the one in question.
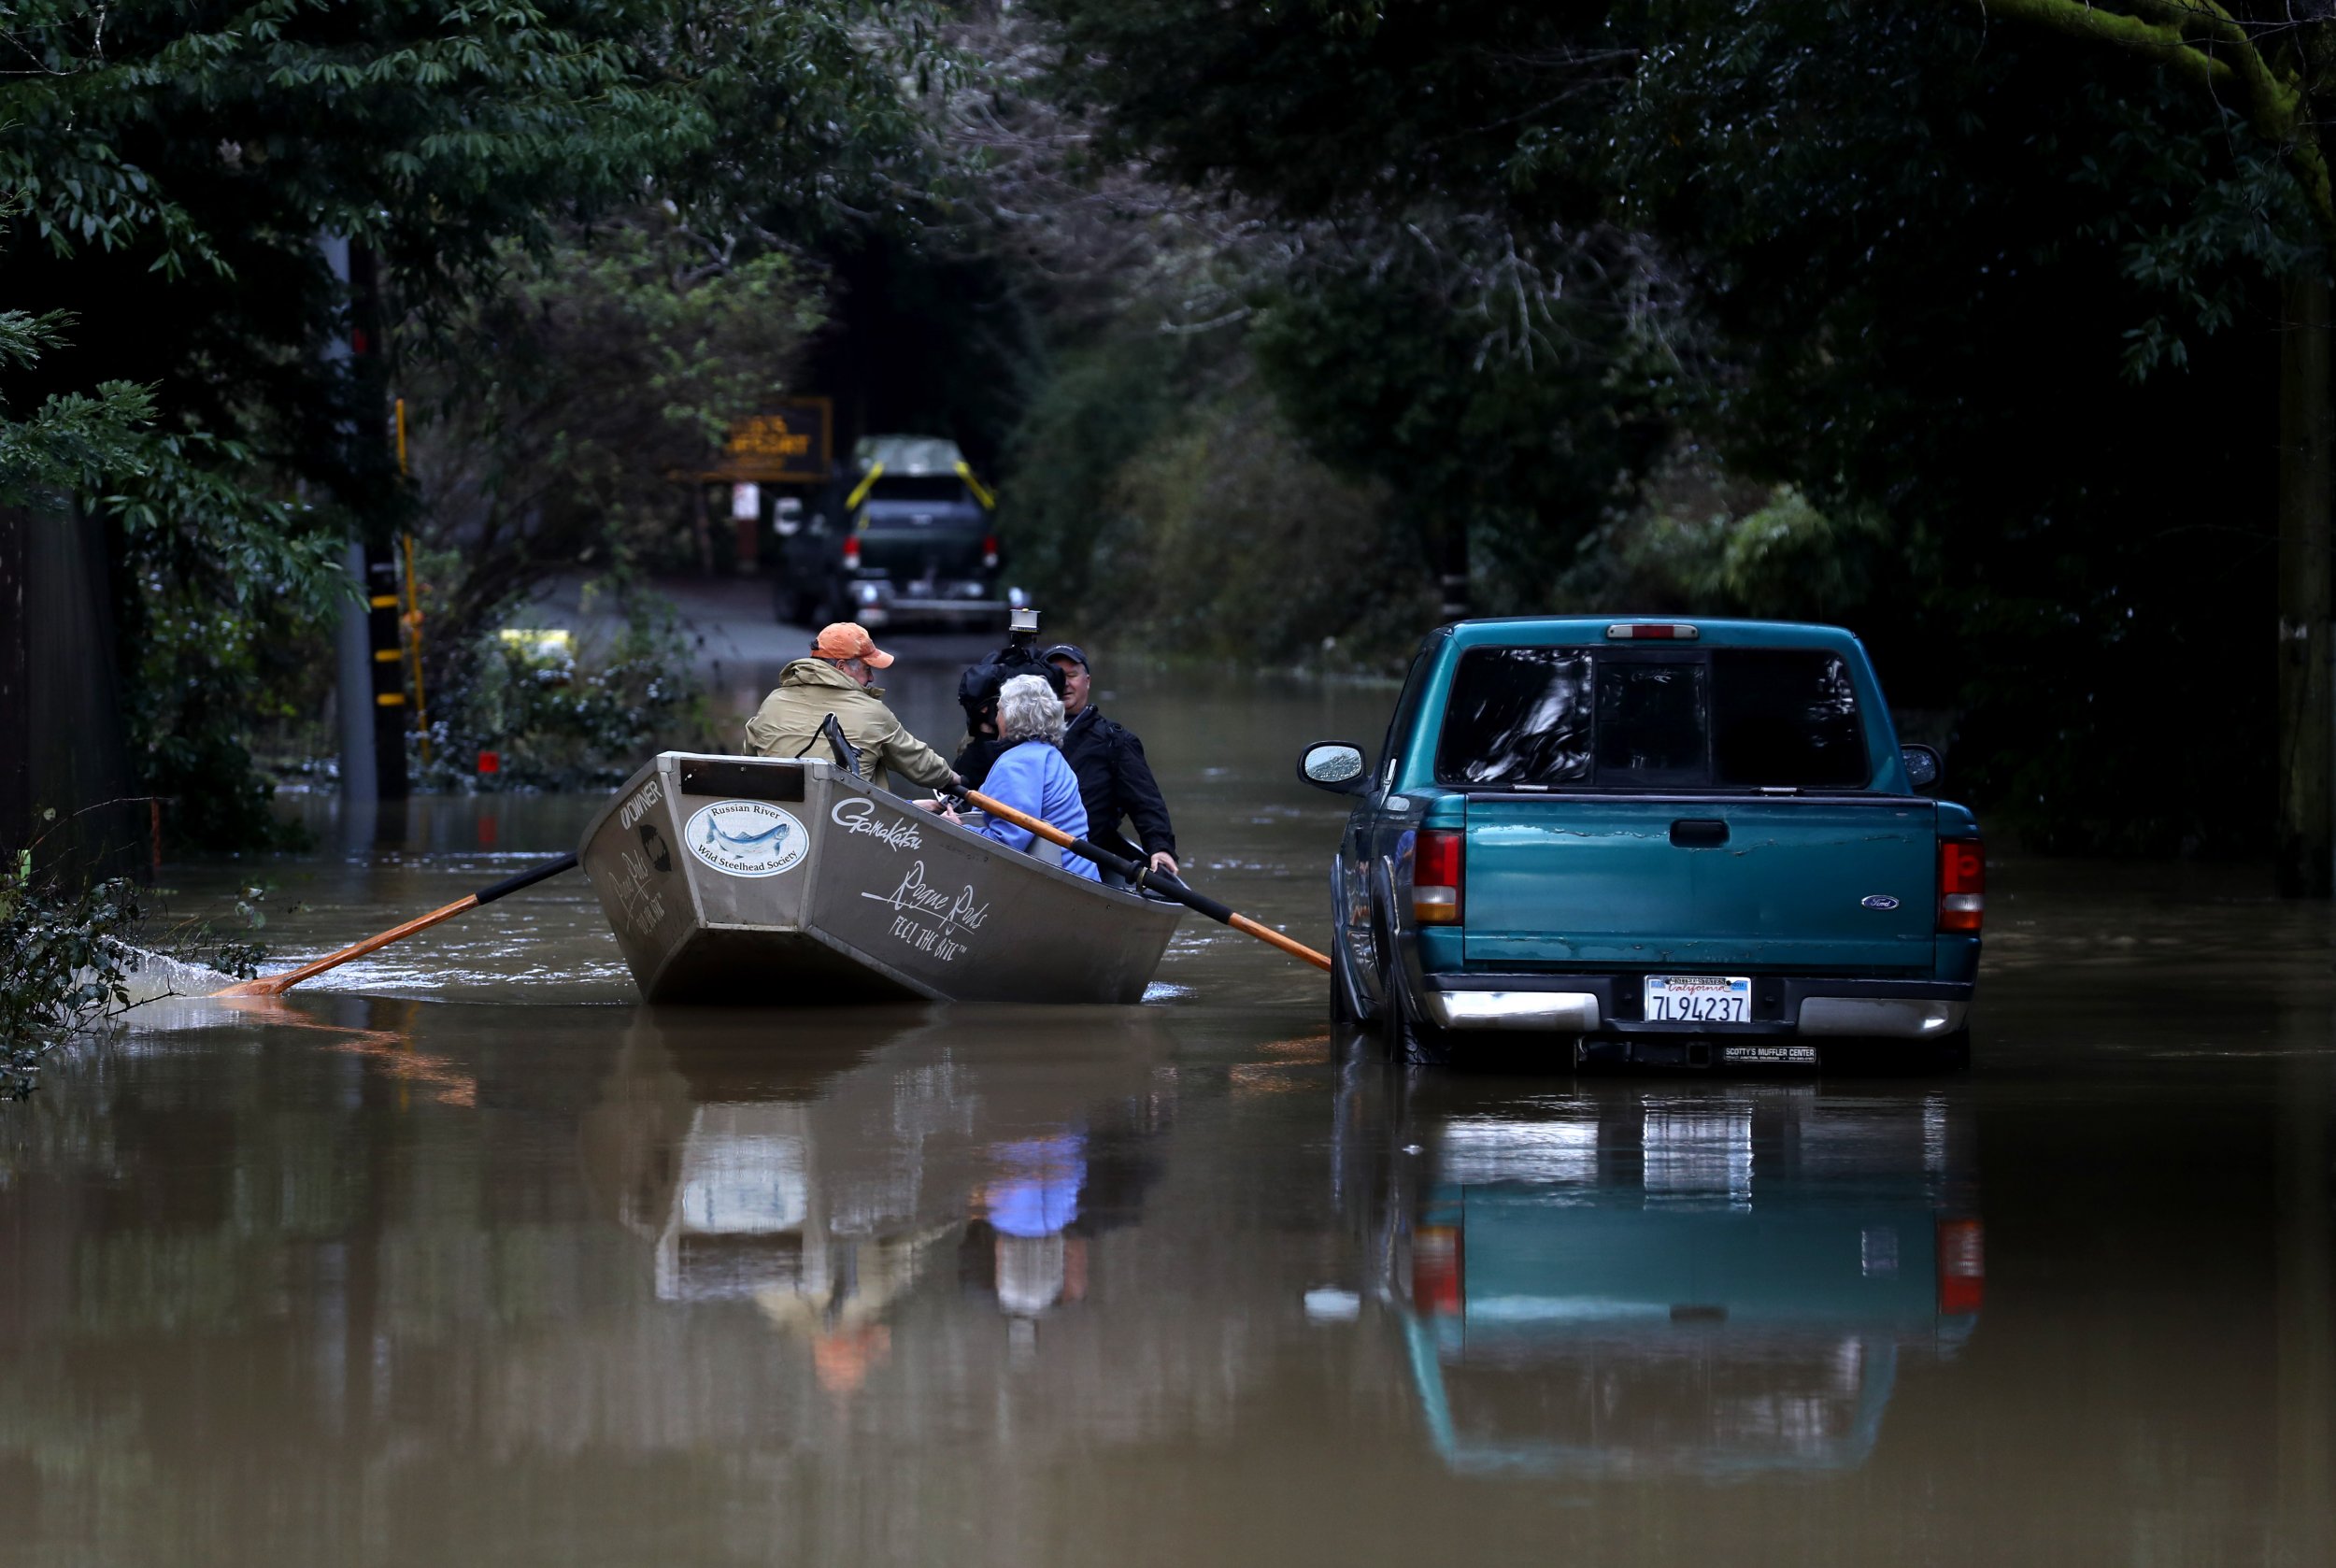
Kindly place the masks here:
POLYGON ((1332 1019, 1411 1061, 1481 1031, 1572 1061, 1969 1061, 1986 860, 1918 795, 1857 638, 1782 622, 1483 619, 1423 643, 1332 867, 1332 1019))

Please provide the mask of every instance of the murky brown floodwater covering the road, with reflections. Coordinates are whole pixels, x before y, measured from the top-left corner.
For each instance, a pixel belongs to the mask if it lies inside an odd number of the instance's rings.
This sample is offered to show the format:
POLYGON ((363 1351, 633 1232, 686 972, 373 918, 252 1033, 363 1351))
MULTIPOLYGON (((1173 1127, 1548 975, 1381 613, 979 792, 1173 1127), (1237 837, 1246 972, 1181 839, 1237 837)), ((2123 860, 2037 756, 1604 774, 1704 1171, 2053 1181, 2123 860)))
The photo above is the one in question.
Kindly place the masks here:
MULTIPOLYGON (((1320 942, 1292 755, 1385 701, 1107 706, 1320 942)), ((166 876, 283 958, 596 802, 292 806, 166 876)), ((1965 1077, 1577 1080, 1201 921, 1128 1010, 642 1007, 544 883, 0 1105, 0 1563, 2336 1559, 2336 921, 1993 893, 1965 1077)))

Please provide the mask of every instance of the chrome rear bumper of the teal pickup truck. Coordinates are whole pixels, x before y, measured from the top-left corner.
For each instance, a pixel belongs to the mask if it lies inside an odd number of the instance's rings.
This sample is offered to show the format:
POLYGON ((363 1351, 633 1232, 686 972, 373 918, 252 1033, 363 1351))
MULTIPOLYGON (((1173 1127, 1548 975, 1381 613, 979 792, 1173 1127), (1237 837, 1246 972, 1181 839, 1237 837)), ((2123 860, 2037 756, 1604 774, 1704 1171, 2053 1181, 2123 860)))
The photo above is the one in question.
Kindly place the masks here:
POLYGON ((1567 1035, 1827 1035, 1937 1040, 1972 1010, 1969 981, 1761 974, 1750 1024, 1652 1024, 1638 1017, 1638 977, 1423 974, 1420 1012, 1437 1028, 1567 1035))

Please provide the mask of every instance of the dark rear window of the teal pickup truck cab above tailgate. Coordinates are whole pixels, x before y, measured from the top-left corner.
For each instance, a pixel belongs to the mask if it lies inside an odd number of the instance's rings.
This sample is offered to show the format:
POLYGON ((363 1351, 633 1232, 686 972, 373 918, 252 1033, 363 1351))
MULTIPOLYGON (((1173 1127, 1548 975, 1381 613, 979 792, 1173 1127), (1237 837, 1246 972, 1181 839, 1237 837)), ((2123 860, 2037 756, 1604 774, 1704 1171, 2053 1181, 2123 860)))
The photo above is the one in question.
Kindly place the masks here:
POLYGON ((1869 776, 1848 664, 1801 647, 1472 647, 1437 736, 1448 785, 1855 790, 1869 776))

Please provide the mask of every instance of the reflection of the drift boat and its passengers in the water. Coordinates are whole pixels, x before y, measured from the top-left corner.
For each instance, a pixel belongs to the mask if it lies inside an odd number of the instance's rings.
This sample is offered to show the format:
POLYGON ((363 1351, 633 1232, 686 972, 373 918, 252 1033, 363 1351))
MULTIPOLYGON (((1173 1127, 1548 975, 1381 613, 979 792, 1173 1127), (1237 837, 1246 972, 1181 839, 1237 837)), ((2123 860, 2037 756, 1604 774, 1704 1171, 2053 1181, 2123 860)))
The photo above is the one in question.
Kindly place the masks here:
POLYGON ((1126 1019, 1126 1052, 1079 1061, 1016 1052, 1004 1010, 850 1045, 867 1021, 811 1017, 813 1045, 773 1052, 759 1028, 642 1010, 584 1122, 596 1189, 654 1241, 656 1297, 752 1302, 829 1393, 890 1358, 890 1318, 937 1271, 990 1295, 1028 1351, 1084 1297, 1089 1239, 1135 1215, 1173 1119, 1166 1040, 1126 1019))

